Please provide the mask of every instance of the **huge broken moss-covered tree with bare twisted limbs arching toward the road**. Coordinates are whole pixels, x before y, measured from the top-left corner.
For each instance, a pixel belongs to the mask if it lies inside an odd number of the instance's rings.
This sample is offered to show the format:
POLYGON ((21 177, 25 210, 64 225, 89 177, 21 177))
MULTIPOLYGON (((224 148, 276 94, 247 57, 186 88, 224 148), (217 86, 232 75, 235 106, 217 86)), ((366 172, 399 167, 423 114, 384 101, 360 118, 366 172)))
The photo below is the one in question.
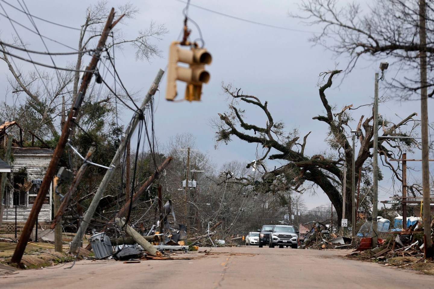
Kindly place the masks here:
MULTIPOLYGON (((284 192, 295 191, 305 192, 309 189, 319 187, 328 196, 335 206, 339 221, 342 216, 342 194, 341 188, 344 179, 344 164, 349 164, 346 170, 346 185, 352 185, 352 145, 351 123, 353 121, 350 110, 352 104, 343 106, 342 109, 332 107, 325 95, 327 88, 332 86, 332 79, 341 70, 328 71, 321 74, 323 82, 319 85, 319 100, 325 110, 324 115, 312 117, 325 124, 328 130, 328 137, 325 140, 329 147, 327 152, 317 153, 309 156, 305 152, 309 133, 300 141, 297 130, 285 132, 285 124, 276 122, 268 109, 268 103, 260 101, 258 97, 240 94, 241 89, 233 88, 232 85, 224 85, 223 90, 229 95, 229 110, 224 114, 219 114, 220 120, 213 121, 213 126, 217 130, 217 143, 228 143, 233 136, 248 143, 256 143, 262 146, 262 152, 257 152, 255 161, 247 164, 247 167, 254 166, 260 170, 260 179, 254 176, 237 177, 231 172, 225 172, 233 182, 241 182, 246 186, 253 186, 256 193, 271 193, 283 195, 284 192), (327 78, 328 77, 328 78, 327 78), (246 110, 241 108, 241 104, 259 107, 263 112, 266 125, 260 127, 245 122, 246 110), (266 166, 266 158, 277 160, 282 166, 269 169, 266 166)), ((414 120, 416 113, 412 113, 401 120, 399 123, 392 123, 384 117, 380 117, 378 127, 380 136, 410 136, 418 121, 414 120)), ((362 181, 365 191, 370 192, 372 179, 372 165, 370 159, 373 147, 374 128, 372 127, 373 116, 361 116, 356 123, 356 130, 361 132, 358 141, 358 152, 355 156, 355 182, 362 181)), ((394 177, 400 179, 398 169, 395 168, 388 159, 400 156, 402 150, 409 150, 417 146, 411 139, 378 140, 379 160, 383 165, 392 170, 394 177)), ((381 179, 381 172, 379 172, 381 179)), ((346 195, 346 217, 351 219, 351 194, 346 195)))

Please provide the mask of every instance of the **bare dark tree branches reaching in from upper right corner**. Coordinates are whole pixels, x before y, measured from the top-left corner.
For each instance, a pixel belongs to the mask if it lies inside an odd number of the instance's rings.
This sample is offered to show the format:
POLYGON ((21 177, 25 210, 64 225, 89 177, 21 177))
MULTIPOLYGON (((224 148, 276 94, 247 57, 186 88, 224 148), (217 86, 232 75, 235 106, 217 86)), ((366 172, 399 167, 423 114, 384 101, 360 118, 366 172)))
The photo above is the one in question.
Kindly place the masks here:
POLYGON ((322 32, 310 41, 324 46, 337 55, 349 55, 351 71, 363 55, 392 59, 404 72, 404 78, 393 79, 392 88, 402 92, 402 97, 412 97, 421 89, 421 51, 427 53, 428 96, 434 94, 434 6, 427 1, 427 44, 419 39, 419 1, 373 1, 364 13, 357 2, 338 0, 307 0, 300 5, 300 14, 291 16, 303 19, 311 26, 320 26, 322 32))

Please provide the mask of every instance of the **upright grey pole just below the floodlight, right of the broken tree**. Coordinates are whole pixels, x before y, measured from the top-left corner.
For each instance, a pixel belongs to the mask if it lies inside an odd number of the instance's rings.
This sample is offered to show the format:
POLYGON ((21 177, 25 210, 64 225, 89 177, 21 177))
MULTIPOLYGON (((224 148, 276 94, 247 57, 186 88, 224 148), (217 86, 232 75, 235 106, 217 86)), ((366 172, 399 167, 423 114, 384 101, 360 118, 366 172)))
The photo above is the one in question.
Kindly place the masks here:
POLYGON ((374 124, 372 125, 374 130, 374 148, 372 149, 373 160, 373 179, 374 184, 372 187, 372 247, 375 247, 378 243, 378 72, 375 73, 375 91, 374 91, 374 124))

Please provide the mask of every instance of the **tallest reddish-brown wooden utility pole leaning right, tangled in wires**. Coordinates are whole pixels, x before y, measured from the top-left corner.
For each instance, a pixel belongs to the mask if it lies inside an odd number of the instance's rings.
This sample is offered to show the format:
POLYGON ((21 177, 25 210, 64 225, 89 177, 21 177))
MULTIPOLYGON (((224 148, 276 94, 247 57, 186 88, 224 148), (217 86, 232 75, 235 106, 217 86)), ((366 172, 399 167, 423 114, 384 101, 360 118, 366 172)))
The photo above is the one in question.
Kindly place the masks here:
POLYGON ((103 32, 101 33, 101 38, 99 39, 98 45, 95 49, 95 52, 92 55, 92 59, 89 63, 89 66, 86 67, 86 72, 82 77, 82 84, 79 89, 79 93, 77 94, 76 99, 74 100, 71 111, 69 112, 68 119, 66 120, 65 126, 62 130, 62 135, 59 138, 59 142, 57 143, 56 149, 54 150, 53 156, 51 157, 50 164, 47 168, 46 174, 42 181, 41 186, 39 187, 38 195, 36 196, 35 202, 33 203, 32 210, 30 211, 29 217, 27 218, 26 224, 24 225, 23 232, 21 233, 20 240, 16 245, 15 251, 13 252, 12 258, 10 260, 11 263, 20 263, 21 258, 23 257, 24 250, 26 250, 27 241, 29 240, 30 233, 35 225, 36 218, 38 217, 39 211, 42 208, 44 199, 46 197, 46 192, 49 189, 51 181, 53 180, 53 176, 55 174, 55 170, 57 165, 59 164, 60 157, 62 156, 63 150, 65 149, 66 143, 69 138, 69 134, 72 130, 72 120, 77 117, 78 110, 82 104, 83 97, 86 94, 86 89, 92 79, 92 75, 95 73, 96 65, 101 56, 101 52, 105 47, 105 41, 109 36, 110 30, 115 26, 116 23, 123 17, 120 16, 115 22, 113 19, 115 17, 115 8, 109 13, 109 17, 107 18, 107 22, 105 23, 103 32))

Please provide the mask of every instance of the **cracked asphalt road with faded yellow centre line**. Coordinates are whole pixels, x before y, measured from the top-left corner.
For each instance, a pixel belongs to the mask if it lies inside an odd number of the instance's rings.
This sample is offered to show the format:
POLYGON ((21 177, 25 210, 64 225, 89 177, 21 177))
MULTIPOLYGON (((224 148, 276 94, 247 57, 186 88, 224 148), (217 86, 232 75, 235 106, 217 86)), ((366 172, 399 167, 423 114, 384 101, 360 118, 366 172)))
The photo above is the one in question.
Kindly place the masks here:
POLYGON ((345 260, 349 251, 290 248, 200 248, 175 260, 82 260, 0 276, 4 289, 434 288, 434 276, 345 260), (200 253, 204 250, 207 253, 200 253), (182 260, 181 258, 188 258, 182 260))

